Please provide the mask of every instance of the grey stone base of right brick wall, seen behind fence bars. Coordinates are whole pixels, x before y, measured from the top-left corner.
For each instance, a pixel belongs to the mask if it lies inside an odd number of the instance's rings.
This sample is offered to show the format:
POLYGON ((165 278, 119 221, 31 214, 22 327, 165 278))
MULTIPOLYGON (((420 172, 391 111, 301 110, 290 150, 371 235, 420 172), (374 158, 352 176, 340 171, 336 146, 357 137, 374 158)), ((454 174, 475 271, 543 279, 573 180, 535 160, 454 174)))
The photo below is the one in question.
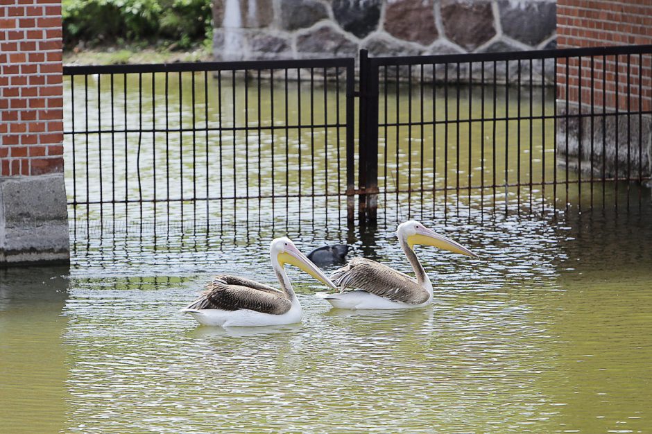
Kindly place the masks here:
MULTIPOLYGON (((578 116, 578 104, 569 103, 568 121, 566 102, 557 101, 556 146, 560 165, 568 162, 568 168, 594 177, 629 177, 637 179, 649 177, 652 173, 652 119, 649 114, 639 118, 637 114, 607 114, 602 116, 602 108, 594 108, 594 117, 578 116), (567 137, 568 136, 568 137, 567 137)), ((590 113, 591 108, 583 106, 582 114, 590 113)), ((614 113, 608 110, 607 113, 614 113)))

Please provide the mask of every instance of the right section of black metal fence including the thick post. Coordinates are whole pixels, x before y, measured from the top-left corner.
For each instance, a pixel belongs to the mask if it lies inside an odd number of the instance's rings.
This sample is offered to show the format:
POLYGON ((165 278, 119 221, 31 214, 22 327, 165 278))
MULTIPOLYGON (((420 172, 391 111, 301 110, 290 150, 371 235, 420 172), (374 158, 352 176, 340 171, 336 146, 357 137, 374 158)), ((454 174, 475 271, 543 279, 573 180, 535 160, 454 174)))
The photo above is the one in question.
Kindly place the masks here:
POLYGON ((362 55, 360 87, 361 218, 629 206, 650 179, 652 46, 362 55))

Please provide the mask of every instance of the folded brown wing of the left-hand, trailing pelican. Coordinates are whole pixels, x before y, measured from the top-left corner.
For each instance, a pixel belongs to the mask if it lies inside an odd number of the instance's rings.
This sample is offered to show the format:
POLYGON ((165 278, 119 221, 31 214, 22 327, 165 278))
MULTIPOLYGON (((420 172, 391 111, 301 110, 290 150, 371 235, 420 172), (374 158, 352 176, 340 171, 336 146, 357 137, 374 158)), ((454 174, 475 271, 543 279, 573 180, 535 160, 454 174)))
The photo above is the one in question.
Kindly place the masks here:
POLYGON ((185 309, 221 309, 223 311, 249 309, 280 315, 289 311, 291 307, 292 302, 280 290, 261 290, 250 286, 225 284, 219 279, 214 279, 209 284, 209 289, 205 290, 201 297, 185 309))

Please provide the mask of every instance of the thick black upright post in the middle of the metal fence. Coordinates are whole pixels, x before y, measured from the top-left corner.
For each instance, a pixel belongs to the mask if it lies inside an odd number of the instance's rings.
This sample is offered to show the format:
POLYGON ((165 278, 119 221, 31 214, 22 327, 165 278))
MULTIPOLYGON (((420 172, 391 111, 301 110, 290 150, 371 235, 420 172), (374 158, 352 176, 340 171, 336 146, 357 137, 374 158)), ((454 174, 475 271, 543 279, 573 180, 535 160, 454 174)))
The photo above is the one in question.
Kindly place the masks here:
POLYGON ((372 67, 367 50, 360 51, 358 150, 358 218, 373 223, 378 207, 378 69, 372 67))

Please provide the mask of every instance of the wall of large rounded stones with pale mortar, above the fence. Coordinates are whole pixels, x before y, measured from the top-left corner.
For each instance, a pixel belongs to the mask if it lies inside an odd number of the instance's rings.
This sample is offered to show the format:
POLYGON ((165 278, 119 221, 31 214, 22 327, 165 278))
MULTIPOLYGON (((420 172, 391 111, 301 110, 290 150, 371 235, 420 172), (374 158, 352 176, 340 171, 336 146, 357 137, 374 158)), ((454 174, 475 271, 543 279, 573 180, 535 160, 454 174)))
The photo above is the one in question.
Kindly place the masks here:
POLYGON ((215 0, 216 60, 556 46, 554 0, 215 0))

